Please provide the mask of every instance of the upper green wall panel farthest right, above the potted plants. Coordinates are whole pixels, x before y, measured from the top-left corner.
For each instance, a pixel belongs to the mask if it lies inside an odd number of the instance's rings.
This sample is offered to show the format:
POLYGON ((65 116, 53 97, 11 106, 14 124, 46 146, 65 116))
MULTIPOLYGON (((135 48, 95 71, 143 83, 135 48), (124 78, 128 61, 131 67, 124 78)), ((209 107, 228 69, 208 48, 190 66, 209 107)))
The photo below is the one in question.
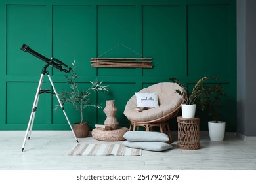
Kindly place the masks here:
POLYGON ((188 76, 229 75, 228 13, 228 5, 188 6, 188 76))

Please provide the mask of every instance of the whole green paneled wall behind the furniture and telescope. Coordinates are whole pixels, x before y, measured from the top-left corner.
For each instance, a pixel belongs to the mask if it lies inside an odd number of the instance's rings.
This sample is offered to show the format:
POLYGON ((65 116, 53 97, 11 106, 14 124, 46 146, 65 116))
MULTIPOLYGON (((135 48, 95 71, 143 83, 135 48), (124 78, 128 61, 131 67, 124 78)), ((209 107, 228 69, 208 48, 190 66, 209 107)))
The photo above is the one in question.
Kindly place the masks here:
MULTIPOLYGON (((191 88, 203 76, 219 76, 228 97, 223 100, 226 131, 236 131, 236 1, 1 1, 0 130, 25 130, 45 62, 20 50, 27 44, 43 56, 71 66, 75 59, 79 86, 98 78, 109 93, 91 99, 105 107, 116 100, 119 125, 128 127, 123 110, 134 92, 179 78, 191 88), (36 3, 35 3, 36 2, 36 3), (152 69, 96 68, 91 58, 152 57, 152 69)), ((68 89, 65 73, 49 67, 58 92, 68 89)), ((51 89, 45 76, 43 87, 51 89)), ((34 129, 70 129, 51 94, 40 96, 34 129)), ((72 123, 79 112, 65 105, 72 123)), ((102 110, 86 108, 91 128, 103 124, 102 110)), ((200 112, 197 113, 201 115, 200 112)), ((201 131, 207 131, 207 118, 201 131)), ((175 120, 171 122, 177 130, 175 120)))

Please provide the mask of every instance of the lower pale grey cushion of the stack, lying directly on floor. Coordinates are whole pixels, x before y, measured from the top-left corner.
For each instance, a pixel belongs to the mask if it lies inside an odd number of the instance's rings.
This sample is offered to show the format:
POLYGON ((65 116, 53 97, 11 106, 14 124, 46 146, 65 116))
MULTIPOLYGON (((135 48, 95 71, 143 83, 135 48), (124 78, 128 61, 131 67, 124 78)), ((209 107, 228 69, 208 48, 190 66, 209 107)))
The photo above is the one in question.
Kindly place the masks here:
POLYGON ((125 141, 123 145, 129 148, 141 148, 143 150, 152 151, 163 151, 172 148, 171 144, 165 142, 135 142, 135 141, 125 141))

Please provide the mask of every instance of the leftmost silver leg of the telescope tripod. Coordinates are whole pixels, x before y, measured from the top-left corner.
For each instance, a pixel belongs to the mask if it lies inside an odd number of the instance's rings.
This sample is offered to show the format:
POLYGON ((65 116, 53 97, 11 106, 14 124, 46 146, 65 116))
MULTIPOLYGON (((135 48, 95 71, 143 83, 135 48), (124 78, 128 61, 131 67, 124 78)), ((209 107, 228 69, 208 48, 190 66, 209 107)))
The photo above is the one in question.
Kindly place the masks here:
POLYGON ((32 130, 32 124, 33 124, 33 120, 35 119, 35 111, 36 111, 36 107, 37 107, 37 103, 38 103, 38 99, 39 99, 39 92, 40 92, 40 89, 41 89, 41 86, 42 86, 42 83, 43 83, 43 75, 44 74, 42 73, 41 77, 40 77, 40 80, 39 80, 38 87, 37 87, 37 92, 35 93, 35 100, 33 101, 32 112, 30 114, 30 120, 28 121, 28 127, 27 127, 27 130, 26 130, 26 135, 24 137, 24 141, 23 141, 23 144, 22 144, 22 152, 25 148, 26 140, 28 138, 28 131, 32 130))

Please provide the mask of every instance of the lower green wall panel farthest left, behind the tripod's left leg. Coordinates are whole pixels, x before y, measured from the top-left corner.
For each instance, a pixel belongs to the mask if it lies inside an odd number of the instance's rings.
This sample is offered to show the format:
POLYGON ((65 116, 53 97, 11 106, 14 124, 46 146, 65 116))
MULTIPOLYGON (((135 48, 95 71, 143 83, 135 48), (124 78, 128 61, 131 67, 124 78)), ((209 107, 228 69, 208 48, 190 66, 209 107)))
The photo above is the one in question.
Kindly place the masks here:
MULTIPOLYGON (((35 82, 8 82, 7 83, 7 125, 26 127, 32 112, 33 100, 37 89, 35 82), (33 90, 32 90, 33 88, 33 90)), ((47 124, 49 118, 48 101, 51 95, 41 95, 38 110, 35 115, 35 128, 37 124, 47 124)))

